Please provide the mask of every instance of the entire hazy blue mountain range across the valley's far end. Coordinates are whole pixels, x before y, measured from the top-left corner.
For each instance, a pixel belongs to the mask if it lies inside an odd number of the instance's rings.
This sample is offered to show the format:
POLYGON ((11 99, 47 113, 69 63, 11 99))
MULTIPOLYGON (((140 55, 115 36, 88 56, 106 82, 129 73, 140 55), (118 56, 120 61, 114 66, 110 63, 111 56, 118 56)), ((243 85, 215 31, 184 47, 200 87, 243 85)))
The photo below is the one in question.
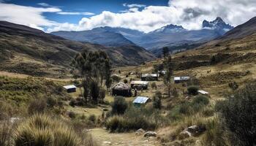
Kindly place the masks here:
POLYGON ((93 28, 89 31, 56 31, 51 34, 80 42, 92 42, 105 46, 138 45, 157 54, 162 47, 200 44, 221 37, 233 26, 222 18, 213 21, 203 20, 200 30, 187 30, 183 26, 167 25, 157 30, 143 33, 129 28, 108 26, 93 28))

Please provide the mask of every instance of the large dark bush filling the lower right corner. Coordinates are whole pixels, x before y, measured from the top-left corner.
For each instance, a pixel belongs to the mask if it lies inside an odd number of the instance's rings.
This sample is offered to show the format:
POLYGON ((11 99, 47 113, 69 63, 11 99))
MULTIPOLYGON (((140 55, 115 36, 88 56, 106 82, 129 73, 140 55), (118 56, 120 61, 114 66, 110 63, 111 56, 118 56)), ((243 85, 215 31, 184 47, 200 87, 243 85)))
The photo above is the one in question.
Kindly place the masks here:
POLYGON ((256 83, 249 83, 234 96, 222 101, 221 112, 227 128, 233 134, 234 145, 256 144, 256 83), (236 137, 236 139, 234 139, 236 137))

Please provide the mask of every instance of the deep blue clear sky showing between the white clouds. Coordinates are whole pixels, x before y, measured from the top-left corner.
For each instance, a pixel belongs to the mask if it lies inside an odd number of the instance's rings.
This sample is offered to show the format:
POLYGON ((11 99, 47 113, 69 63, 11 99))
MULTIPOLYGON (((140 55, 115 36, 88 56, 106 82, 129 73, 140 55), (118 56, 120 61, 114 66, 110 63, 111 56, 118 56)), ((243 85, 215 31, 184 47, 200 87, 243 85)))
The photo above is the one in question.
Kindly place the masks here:
MULTIPOLYGON (((127 9, 123 4, 143 4, 146 6, 167 6, 168 0, 12 0, 6 1, 10 4, 18 4, 31 7, 42 7, 48 4, 52 7, 59 7, 65 12, 91 12, 95 15, 103 11, 120 12, 127 9), (42 4, 42 5, 40 5, 42 4)), ((57 13, 45 12, 43 14, 48 20, 54 20, 59 23, 78 23, 81 18, 89 18, 91 15, 59 15, 57 13)))

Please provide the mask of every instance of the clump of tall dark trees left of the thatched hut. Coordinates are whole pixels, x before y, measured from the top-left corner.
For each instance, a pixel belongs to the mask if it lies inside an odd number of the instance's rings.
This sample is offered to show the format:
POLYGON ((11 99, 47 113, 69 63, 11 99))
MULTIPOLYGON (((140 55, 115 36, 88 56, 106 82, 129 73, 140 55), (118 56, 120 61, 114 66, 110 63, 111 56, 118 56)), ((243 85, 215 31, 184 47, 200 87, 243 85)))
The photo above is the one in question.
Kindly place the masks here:
POLYGON ((75 56, 72 64, 75 69, 78 69, 78 75, 83 86, 83 97, 87 101, 89 96, 94 101, 99 97, 99 88, 102 87, 103 80, 106 80, 105 85, 108 87, 110 83, 110 60, 108 55, 99 51, 83 50, 75 56))

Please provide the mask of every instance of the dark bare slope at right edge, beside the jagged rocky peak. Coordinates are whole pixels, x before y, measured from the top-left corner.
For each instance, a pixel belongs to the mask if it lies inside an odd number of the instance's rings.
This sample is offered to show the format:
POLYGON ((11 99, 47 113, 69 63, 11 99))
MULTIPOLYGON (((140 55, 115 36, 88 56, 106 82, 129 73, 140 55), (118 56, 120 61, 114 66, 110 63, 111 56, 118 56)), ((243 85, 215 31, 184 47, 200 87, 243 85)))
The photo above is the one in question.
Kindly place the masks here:
POLYGON ((236 26, 221 37, 220 39, 238 39, 256 33, 256 17, 248 20, 246 23, 236 26))

